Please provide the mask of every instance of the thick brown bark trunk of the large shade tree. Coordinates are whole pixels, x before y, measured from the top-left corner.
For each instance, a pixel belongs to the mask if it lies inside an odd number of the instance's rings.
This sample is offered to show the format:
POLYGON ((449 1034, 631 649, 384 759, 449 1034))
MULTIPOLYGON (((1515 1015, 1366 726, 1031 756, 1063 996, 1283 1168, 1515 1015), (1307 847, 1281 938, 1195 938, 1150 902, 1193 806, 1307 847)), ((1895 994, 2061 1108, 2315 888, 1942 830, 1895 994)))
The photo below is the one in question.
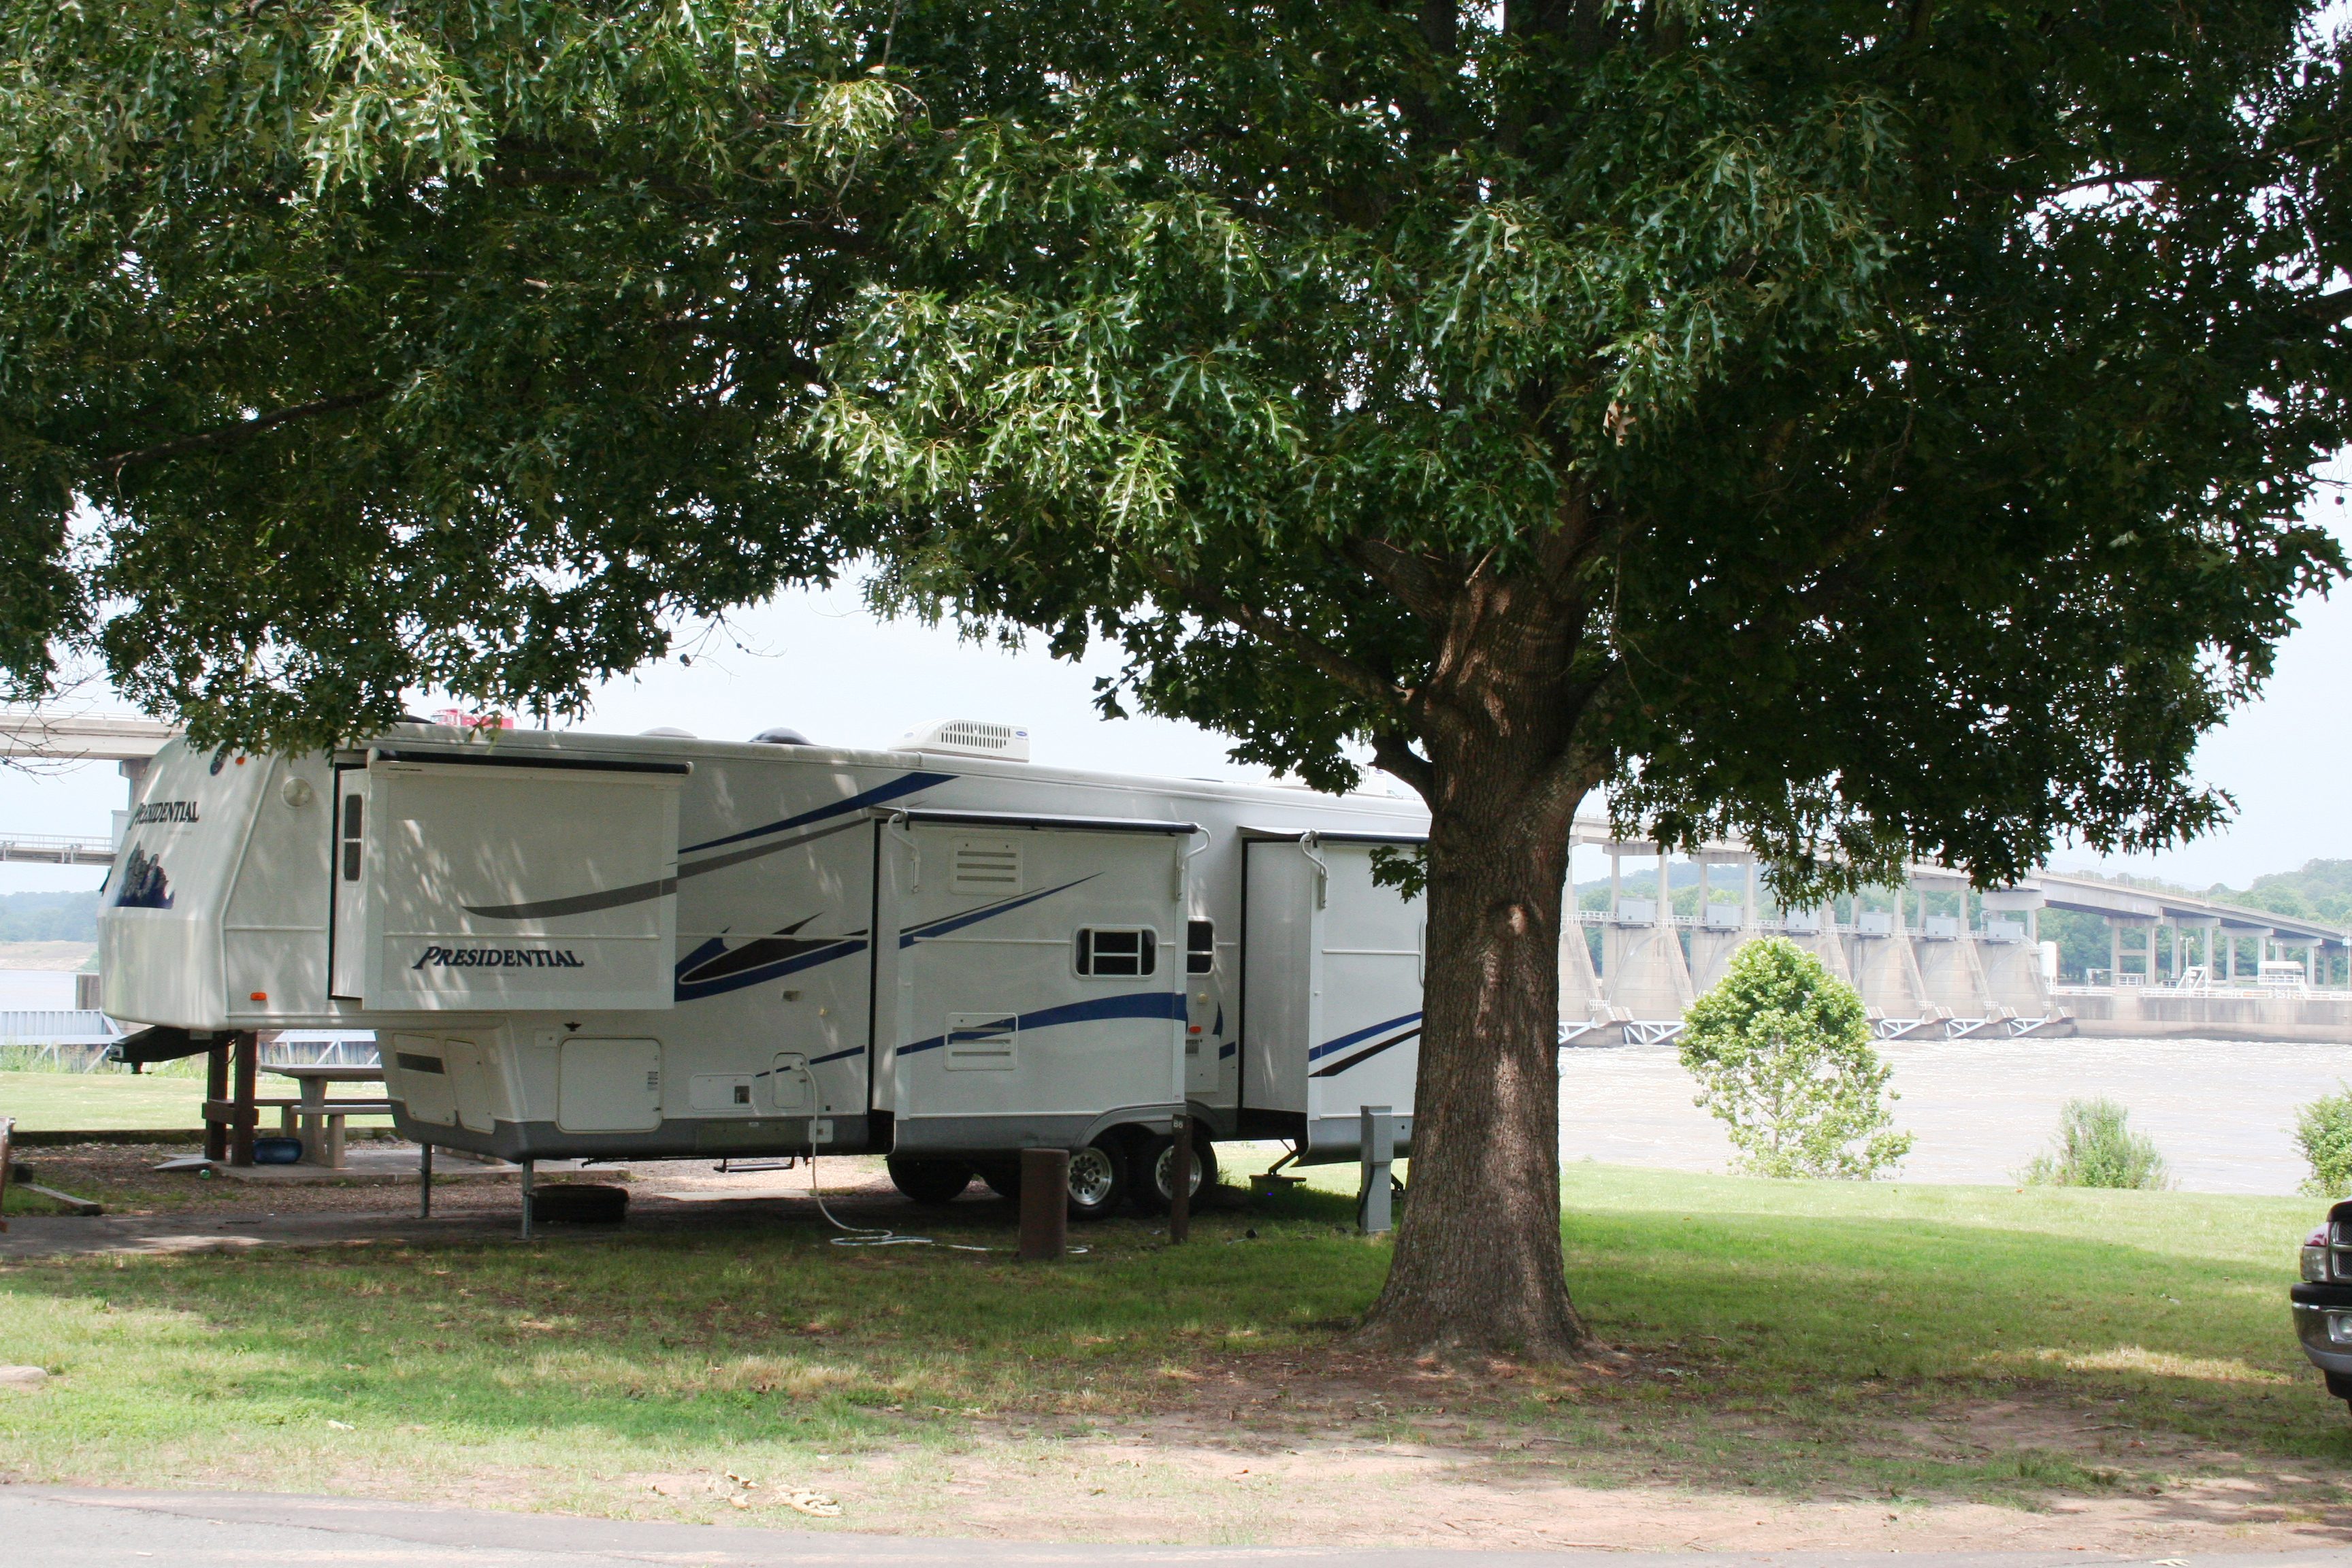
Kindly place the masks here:
POLYGON ((1566 1359, 1588 1335, 1559 1255, 1559 922, 1573 614, 1463 588, 1425 686, 1428 969, 1411 1201, 1357 1338, 1388 1352, 1566 1359))

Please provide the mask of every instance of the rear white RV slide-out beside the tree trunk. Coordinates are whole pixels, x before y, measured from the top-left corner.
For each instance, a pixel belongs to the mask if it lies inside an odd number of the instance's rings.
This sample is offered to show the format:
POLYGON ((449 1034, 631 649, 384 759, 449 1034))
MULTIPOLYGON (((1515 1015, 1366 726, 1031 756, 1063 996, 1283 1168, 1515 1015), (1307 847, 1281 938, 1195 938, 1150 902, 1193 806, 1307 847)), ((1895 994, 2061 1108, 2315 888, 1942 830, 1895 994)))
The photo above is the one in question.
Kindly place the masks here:
POLYGON ((1374 849, 1249 844, 1247 1103, 1303 1110, 1308 1164, 1355 1159, 1367 1105, 1411 1135, 1423 905, 1371 879, 1374 849))

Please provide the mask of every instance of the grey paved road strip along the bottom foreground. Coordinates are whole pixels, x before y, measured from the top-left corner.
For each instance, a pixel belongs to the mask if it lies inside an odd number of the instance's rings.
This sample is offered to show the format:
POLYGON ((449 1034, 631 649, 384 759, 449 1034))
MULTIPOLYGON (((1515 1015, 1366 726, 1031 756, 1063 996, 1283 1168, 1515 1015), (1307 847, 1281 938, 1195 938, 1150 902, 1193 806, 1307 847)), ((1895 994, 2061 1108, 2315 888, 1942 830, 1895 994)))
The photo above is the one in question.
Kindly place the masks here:
MULTIPOLYGON (((1207 1563, 1216 1568, 1886 1568, 1889 1552, 1362 1552, 1355 1547, 1098 1547, 898 1540, 835 1530, 626 1523, 489 1514, 362 1497, 141 1493, 0 1486, 0 1559, 9 1568, 1016 1568, 1023 1563, 1207 1563)), ((1919 1568, 2098 1568, 2147 1559, 2096 1552, 1905 1552, 1919 1568)), ((2352 1552, 2157 1559, 2192 1568, 2352 1568, 2352 1552)))

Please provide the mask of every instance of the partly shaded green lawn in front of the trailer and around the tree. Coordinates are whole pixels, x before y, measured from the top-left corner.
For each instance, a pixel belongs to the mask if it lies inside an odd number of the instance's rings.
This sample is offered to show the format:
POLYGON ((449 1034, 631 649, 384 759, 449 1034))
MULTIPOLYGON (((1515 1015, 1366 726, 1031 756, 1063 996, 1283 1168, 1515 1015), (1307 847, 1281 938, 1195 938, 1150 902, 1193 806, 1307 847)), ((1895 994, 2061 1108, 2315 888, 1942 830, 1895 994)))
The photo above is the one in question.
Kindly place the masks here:
MULTIPOLYGON (((1355 1436, 1468 1420, 1458 1441, 1555 1439, 1548 1462, 1583 1483, 1790 1497, 2034 1505, 2279 1460, 2326 1486, 2352 1474, 2345 1410, 2286 1316, 2310 1201, 1592 1164, 1564 1197, 1578 1307, 1632 1363, 1399 1382, 1371 1410, 1258 1420, 1355 1436), (2020 1401, 2093 1436, 1903 1436, 2020 1401)), ((1084 1227, 1094 1251, 1044 1269, 771 1220, 16 1262, 0 1347, 59 1378, 0 1413, 0 1472, 414 1495, 477 1476, 510 1507, 633 1512, 623 1476, 823 1479, 898 1455, 901 1481, 866 1483, 898 1486, 898 1528, 924 1528, 938 1455, 1145 1420, 1237 1368, 1336 1366, 1324 1349, 1388 1265, 1348 1213, 1294 1192, 1202 1220, 1188 1248, 1084 1227)), ((929 1220, 1011 1244, 1002 1222, 929 1220)))

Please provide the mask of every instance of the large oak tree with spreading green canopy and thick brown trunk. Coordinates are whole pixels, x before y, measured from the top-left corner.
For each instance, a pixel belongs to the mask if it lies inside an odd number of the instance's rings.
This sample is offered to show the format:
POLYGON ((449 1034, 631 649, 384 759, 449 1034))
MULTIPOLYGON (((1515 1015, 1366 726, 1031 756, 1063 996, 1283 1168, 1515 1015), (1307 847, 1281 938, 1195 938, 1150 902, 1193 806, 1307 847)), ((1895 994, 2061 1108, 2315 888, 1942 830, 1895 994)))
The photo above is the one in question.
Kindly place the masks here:
POLYGON ((1562 1354, 1578 802, 1792 889, 2225 809, 2343 571, 2314 9, 16 0, 0 656, 313 745, 873 555, 1369 755, 1432 835, 1367 1335, 1562 1354))

